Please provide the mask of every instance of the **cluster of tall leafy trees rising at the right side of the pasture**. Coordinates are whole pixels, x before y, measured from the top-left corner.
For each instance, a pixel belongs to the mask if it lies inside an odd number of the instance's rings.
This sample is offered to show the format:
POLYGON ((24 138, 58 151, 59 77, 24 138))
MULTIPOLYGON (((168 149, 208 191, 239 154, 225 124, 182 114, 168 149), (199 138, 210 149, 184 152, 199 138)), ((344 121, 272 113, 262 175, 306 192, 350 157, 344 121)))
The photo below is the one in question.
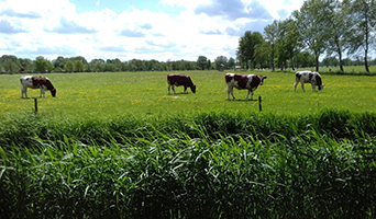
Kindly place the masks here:
POLYGON ((245 32, 239 41, 237 60, 246 68, 275 70, 305 67, 305 58, 313 57, 312 66, 319 71, 319 60, 327 55, 322 62, 343 71, 350 62, 343 58, 346 54, 369 72, 368 66, 375 62, 368 60, 376 44, 375 12, 376 0, 307 0, 290 18, 267 25, 264 35, 245 32))

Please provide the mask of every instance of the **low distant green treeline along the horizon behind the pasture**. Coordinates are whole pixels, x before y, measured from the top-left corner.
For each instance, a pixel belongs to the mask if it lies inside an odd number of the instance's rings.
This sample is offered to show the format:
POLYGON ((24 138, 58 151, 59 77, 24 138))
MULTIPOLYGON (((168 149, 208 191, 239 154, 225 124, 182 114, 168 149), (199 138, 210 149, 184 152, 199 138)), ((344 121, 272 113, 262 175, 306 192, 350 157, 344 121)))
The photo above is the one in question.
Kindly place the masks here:
MULTIPOLYGON (((314 66, 314 57, 307 51, 300 53, 297 56, 298 68, 307 68, 314 66)), ((344 66, 361 66, 364 65, 362 58, 343 60, 344 66)), ((368 61, 369 65, 376 65, 376 58, 368 61)), ((336 58, 323 59, 320 66, 338 66, 336 58)), ((158 61, 132 59, 121 61, 115 59, 92 59, 87 61, 85 57, 65 58, 58 56, 56 59, 48 60, 42 56, 32 60, 29 58, 18 58, 13 55, 3 55, 0 57, 0 73, 41 73, 41 72, 115 72, 115 71, 186 71, 186 70, 226 70, 226 69, 243 69, 234 58, 224 56, 217 57, 213 61, 206 56, 199 56, 197 61, 189 60, 167 60, 158 61)), ((257 66, 261 68, 261 66, 257 66)), ((264 67, 263 67, 264 68, 264 67)))

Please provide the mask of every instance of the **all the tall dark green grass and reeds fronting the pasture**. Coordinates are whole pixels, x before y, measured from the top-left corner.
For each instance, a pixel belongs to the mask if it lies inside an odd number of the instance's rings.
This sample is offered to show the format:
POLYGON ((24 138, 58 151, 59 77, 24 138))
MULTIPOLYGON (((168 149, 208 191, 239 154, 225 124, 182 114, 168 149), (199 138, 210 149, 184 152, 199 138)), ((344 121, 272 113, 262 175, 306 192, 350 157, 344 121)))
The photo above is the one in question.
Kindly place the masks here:
POLYGON ((374 113, 14 115, 1 218, 374 218, 374 113))

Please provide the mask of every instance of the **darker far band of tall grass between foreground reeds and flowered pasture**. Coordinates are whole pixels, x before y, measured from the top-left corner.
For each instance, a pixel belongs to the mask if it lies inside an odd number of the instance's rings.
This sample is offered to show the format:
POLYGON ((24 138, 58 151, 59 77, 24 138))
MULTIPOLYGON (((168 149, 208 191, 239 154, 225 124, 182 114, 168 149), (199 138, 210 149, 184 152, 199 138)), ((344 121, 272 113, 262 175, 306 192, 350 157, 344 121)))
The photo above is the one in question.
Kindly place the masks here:
POLYGON ((358 135, 375 135, 374 113, 323 110, 305 116, 240 112, 208 112, 198 114, 124 115, 88 119, 70 119, 48 114, 22 114, 0 119, 0 145, 30 147, 37 139, 52 142, 66 137, 75 142, 109 145, 129 143, 137 138, 153 139, 156 132, 168 138, 180 136, 218 139, 226 135, 278 136, 288 138, 316 131, 336 138, 356 139, 358 135), (275 135, 277 134, 277 135, 275 135))

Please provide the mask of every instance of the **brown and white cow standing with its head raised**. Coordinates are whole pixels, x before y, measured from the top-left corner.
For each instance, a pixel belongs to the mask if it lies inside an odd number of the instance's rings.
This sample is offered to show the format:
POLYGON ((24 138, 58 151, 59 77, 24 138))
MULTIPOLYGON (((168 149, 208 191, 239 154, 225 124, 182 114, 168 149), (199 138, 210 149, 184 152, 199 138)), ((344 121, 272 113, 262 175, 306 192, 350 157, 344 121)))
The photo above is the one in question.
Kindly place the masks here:
POLYGON ((253 92, 257 89, 258 85, 263 85, 264 79, 267 77, 256 76, 256 74, 239 74, 239 73, 226 73, 224 79, 228 85, 228 100, 230 101, 230 93, 235 100, 234 96, 234 88, 237 90, 248 90, 245 99, 248 99, 251 93, 251 100, 253 100, 253 92))

